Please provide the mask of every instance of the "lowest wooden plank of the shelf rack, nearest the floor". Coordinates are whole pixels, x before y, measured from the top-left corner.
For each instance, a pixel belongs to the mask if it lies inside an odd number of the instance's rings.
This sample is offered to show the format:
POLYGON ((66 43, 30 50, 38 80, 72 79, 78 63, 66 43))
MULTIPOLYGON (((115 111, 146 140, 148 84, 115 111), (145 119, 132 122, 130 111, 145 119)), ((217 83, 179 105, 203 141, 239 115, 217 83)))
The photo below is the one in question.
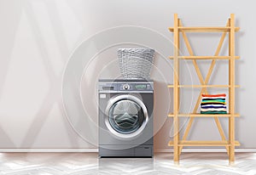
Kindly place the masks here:
MULTIPOLYGON (((230 146, 229 141, 197 141, 197 140, 180 140, 178 146, 230 146)), ((169 141, 168 146, 173 146, 173 141, 169 141)), ((235 141, 235 146, 240 146, 238 141, 235 141)))

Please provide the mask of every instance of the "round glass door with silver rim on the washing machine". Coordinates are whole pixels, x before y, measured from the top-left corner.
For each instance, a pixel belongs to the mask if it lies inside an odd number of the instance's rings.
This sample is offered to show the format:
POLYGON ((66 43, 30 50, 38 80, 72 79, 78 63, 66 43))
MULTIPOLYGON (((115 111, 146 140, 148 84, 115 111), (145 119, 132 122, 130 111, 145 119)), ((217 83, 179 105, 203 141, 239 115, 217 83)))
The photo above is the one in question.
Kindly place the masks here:
POLYGON ((148 123, 148 111, 141 99, 119 95, 108 101, 105 115, 108 130, 119 138, 134 138, 148 123))

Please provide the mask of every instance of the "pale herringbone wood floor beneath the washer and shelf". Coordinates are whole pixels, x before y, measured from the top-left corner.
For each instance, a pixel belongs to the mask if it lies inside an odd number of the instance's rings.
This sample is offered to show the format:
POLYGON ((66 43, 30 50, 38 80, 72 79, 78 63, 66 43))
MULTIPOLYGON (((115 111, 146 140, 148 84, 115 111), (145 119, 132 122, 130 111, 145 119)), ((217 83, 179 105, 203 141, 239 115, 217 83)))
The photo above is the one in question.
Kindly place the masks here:
POLYGON ((148 158, 104 158, 96 153, 0 153, 0 174, 256 174, 256 154, 236 153, 236 164, 228 165, 225 153, 183 153, 179 166, 172 153, 148 158))

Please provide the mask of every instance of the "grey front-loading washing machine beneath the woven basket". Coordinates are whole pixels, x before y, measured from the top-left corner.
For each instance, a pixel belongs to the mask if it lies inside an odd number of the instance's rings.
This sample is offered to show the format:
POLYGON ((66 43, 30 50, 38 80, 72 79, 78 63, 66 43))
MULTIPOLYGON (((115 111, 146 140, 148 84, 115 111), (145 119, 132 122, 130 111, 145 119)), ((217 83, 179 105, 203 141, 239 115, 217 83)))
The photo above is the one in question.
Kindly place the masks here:
POLYGON ((98 82, 99 156, 154 155, 154 82, 106 80, 98 82))

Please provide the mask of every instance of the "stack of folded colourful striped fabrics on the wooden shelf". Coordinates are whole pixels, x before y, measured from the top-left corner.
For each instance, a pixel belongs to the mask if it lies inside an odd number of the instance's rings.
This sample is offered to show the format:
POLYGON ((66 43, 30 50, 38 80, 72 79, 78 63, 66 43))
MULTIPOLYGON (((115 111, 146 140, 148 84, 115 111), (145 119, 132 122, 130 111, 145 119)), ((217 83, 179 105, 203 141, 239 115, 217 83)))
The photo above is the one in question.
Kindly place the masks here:
POLYGON ((226 94, 202 94, 201 114, 226 114, 226 94))

